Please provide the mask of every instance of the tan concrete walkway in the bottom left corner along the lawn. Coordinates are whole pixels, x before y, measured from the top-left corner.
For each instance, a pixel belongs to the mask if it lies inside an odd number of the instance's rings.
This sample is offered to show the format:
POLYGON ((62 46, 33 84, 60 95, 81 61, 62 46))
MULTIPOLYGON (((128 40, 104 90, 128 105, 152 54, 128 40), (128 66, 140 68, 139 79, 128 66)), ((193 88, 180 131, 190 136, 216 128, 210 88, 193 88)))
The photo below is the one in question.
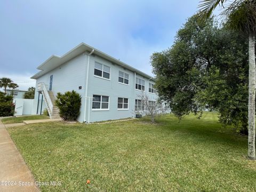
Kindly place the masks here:
POLYGON ((39 191, 28 166, 0 120, 0 191, 39 191), (6 182, 3 182, 6 181, 6 182), (8 182, 9 181, 9 182, 8 182), (33 186, 21 186, 24 182, 33 186), (7 186, 5 186, 7 185, 7 186))

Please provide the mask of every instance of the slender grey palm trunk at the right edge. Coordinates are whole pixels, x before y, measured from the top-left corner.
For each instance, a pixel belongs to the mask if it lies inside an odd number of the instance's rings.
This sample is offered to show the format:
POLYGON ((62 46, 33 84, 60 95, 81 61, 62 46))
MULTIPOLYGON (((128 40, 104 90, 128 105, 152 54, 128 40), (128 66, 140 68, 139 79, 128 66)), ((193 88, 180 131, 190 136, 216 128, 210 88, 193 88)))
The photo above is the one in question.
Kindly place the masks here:
POLYGON ((255 160, 255 39, 249 35, 248 157, 255 160))

